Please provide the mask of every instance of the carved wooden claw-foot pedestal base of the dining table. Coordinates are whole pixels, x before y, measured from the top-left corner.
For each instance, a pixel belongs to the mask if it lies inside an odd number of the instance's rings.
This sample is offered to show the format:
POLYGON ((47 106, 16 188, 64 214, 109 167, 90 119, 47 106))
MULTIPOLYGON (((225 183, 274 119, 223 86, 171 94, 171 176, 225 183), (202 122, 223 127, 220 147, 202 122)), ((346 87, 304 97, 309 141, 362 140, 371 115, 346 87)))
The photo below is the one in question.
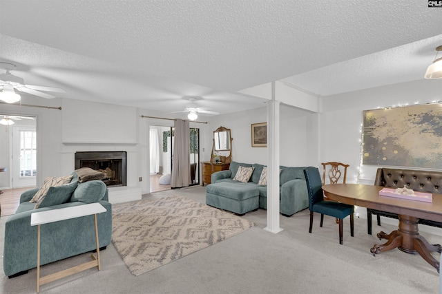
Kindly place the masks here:
POLYGON ((370 252, 378 254, 383 251, 398 248, 406 253, 419 253, 424 260, 434 266, 439 272, 439 261, 431 255, 431 252, 436 251, 441 253, 442 246, 439 244, 429 244, 423 236, 419 235, 419 218, 404 215, 398 215, 398 217, 399 228, 388 235, 382 231, 378 233, 377 236, 379 239, 387 239, 388 241, 382 245, 374 245, 372 249, 370 249, 370 252))

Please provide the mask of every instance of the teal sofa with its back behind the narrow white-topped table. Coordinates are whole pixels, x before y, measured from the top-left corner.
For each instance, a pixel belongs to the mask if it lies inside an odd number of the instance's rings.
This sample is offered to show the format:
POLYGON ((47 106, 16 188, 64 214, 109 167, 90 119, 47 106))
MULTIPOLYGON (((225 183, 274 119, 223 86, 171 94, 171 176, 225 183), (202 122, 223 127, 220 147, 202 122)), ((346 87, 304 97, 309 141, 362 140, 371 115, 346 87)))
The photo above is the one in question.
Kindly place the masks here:
MULTIPOLYGON (((30 226, 30 215, 37 211, 99 202, 106 209, 105 213, 97 214, 99 247, 105 249, 111 243, 112 204, 108 202, 106 185, 101 180, 79 183, 75 172, 73 176, 70 184, 48 190, 48 196, 66 197, 65 203, 34 209, 35 203, 29 200, 39 188, 21 194, 17 211, 6 220, 5 225, 3 271, 8 277, 27 273, 29 269, 37 267, 37 226, 30 226)), ((93 216, 41 225, 41 265, 96 249, 93 216)))

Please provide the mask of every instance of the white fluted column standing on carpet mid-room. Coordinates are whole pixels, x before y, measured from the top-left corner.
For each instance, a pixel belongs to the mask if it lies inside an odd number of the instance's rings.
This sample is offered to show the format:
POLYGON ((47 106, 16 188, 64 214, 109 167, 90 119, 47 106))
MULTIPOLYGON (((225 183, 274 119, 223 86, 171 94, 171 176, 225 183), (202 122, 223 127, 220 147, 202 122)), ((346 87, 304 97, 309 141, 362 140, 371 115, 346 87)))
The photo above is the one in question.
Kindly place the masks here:
POLYGON ((275 100, 275 82, 271 83, 271 100, 267 101, 267 227, 279 233, 279 101, 275 100))

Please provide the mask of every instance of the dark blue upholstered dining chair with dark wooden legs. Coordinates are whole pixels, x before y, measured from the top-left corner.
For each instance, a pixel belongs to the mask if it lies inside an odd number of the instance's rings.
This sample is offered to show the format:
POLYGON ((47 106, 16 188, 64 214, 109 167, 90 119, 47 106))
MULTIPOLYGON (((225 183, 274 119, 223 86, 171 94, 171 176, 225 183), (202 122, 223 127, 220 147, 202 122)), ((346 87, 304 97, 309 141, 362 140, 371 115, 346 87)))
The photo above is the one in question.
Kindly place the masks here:
POLYGON ((310 228, 313 227, 313 213, 320 213, 320 227, 323 227, 324 215, 333 216, 339 220, 339 244, 343 244, 343 219, 350 216, 350 233, 354 236, 354 206, 335 201, 324 200, 322 181, 316 167, 304 169, 307 190, 309 191, 310 228))

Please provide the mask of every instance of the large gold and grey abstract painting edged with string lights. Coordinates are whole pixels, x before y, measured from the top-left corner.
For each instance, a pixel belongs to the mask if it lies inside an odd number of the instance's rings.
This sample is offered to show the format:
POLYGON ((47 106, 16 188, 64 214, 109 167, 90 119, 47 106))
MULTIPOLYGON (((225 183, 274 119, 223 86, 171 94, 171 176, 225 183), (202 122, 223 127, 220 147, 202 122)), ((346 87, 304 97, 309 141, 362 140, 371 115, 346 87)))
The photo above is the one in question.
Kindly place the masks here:
POLYGON ((387 107, 363 112, 363 164, 442 166, 442 103, 387 107))

